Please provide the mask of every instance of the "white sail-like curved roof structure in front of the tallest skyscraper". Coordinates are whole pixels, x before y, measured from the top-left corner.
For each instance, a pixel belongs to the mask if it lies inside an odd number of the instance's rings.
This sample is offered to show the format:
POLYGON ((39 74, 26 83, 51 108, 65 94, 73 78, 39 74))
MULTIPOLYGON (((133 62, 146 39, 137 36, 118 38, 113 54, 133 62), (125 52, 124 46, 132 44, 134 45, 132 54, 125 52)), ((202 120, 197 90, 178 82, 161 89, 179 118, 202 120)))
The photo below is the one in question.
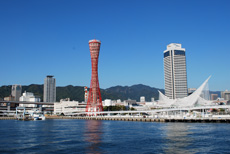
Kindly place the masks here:
POLYGON ((204 93, 205 87, 207 86, 208 80, 211 78, 211 76, 205 80, 205 82, 191 95, 184 97, 184 98, 178 98, 178 99, 170 99, 164 94, 162 94, 159 91, 159 106, 162 107, 191 107, 195 105, 210 105, 212 101, 208 101, 201 96, 204 93))

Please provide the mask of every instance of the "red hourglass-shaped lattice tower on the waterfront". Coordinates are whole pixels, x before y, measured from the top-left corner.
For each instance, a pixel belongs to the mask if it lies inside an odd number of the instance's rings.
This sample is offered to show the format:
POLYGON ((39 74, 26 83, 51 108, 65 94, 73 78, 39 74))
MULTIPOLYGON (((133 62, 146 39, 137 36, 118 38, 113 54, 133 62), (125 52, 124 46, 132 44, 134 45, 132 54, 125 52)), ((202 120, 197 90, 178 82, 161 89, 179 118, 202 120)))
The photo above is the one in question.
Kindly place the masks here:
POLYGON ((98 81, 98 57, 100 51, 101 41, 90 40, 89 50, 91 55, 92 75, 86 112, 101 112, 103 111, 101 92, 98 81))

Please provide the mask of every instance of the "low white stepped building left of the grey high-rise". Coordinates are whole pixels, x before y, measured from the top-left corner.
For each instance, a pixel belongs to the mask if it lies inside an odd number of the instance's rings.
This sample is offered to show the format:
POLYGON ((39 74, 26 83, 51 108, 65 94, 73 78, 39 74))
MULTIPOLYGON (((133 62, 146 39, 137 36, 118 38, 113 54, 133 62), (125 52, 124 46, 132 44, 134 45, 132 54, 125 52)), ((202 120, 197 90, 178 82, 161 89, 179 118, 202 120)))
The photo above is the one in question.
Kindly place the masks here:
MULTIPOLYGON (((34 96, 32 92, 24 92, 22 96, 19 98, 21 102, 40 102, 41 99, 39 96, 34 96)), ((37 107, 36 104, 20 104, 20 107, 37 107)))

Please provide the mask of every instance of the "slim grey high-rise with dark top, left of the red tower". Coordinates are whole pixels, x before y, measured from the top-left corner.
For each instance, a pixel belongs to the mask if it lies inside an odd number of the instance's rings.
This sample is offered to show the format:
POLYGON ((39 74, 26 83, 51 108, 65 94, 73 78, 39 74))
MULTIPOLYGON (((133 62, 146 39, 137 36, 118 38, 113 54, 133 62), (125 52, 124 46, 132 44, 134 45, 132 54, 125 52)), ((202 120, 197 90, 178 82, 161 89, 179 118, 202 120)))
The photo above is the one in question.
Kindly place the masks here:
POLYGON ((43 102, 56 102, 56 80, 51 75, 45 78, 43 102))

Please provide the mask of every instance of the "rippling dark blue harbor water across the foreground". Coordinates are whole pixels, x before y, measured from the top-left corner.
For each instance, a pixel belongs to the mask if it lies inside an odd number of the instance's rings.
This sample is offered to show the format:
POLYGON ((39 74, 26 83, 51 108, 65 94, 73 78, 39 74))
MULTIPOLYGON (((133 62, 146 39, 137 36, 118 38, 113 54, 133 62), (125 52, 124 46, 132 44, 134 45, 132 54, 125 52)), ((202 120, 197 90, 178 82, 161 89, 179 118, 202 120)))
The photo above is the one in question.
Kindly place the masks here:
POLYGON ((0 153, 229 153, 229 123, 0 120, 0 153))

